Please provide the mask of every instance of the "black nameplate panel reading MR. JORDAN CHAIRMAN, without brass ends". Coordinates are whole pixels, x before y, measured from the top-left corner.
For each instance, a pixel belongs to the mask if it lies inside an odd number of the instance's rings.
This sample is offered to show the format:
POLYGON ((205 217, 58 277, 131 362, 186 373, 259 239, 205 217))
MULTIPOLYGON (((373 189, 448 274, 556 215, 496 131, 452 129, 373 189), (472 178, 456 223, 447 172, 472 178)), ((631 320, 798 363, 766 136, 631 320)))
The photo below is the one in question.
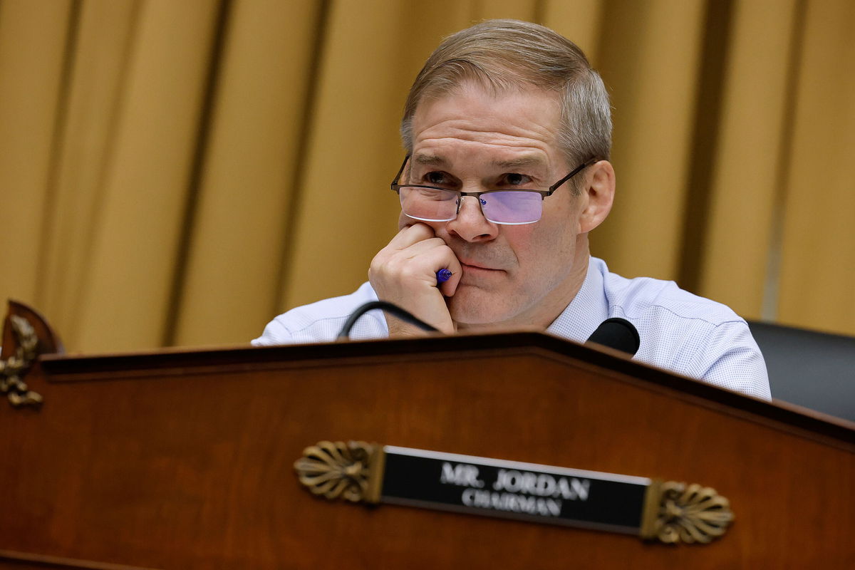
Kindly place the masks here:
POLYGON ((651 480, 386 445, 380 502, 638 534, 651 480))

